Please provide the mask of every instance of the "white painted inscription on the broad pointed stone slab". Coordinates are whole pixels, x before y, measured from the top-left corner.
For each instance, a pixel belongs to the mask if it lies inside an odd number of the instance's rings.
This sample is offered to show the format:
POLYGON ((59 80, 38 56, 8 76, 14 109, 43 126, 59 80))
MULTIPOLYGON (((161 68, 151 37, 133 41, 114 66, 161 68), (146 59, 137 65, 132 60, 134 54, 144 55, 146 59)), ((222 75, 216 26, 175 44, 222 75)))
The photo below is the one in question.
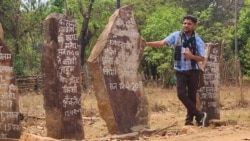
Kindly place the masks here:
MULTIPOLYGON (((102 73, 108 77, 119 77, 122 82, 116 81, 107 84, 110 90, 128 89, 137 91, 142 87, 142 82, 137 80, 138 53, 134 51, 140 38, 138 31, 134 31, 132 19, 127 20, 118 17, 116 26, 112 29, 107 46, 101 56, 102 73), (135 40, 133 40, 133 39, 135 40)), ((112 80, 112 79, 111 79, 112 80)))

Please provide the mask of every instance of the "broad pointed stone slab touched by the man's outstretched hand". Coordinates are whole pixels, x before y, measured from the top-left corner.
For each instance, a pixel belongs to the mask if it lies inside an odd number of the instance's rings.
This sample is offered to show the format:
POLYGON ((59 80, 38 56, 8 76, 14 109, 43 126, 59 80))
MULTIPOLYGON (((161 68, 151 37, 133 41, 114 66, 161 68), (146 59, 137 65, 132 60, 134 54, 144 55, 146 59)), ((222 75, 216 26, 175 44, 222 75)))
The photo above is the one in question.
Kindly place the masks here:
POLYGON ((138 74, 143 50, 133 6, 117 9, 88 58, 99 112, 111 134, 148 125, 148 102, 138 74))

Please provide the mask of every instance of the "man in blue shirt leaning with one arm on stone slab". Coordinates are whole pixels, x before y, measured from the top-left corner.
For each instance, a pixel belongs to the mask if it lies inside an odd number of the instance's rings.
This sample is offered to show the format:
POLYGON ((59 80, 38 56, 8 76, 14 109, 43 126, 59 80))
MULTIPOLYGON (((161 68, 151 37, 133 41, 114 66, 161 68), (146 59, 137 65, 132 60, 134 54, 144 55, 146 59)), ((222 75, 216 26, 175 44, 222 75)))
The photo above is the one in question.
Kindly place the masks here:
POLYGON ((164 45, 174 45, 174 69, 177 78, 177 94, 187 109, 185 125, 203 127, 207 114, 196 108, 196 92, 198 89, 199 71, 197 62, 204 61, 205 47, 202 39, 195 34, 197 18, 187 15, 183 18, 183 31, 176 31, 161 41, 147 42, 146 46, 158 48, 164 45))

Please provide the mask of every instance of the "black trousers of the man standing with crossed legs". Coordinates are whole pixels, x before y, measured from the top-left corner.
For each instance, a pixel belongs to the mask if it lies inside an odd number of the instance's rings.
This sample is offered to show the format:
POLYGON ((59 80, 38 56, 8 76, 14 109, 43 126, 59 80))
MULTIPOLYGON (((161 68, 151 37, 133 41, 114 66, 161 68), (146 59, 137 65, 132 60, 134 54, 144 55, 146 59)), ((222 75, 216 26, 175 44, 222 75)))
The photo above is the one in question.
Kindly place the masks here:
POLYGON ((186 122, 193 121, 194 116, 199 116, 196 108, 196 93, 198 89, 199 71, 176 71, 177 95, 187 109, 186 122))

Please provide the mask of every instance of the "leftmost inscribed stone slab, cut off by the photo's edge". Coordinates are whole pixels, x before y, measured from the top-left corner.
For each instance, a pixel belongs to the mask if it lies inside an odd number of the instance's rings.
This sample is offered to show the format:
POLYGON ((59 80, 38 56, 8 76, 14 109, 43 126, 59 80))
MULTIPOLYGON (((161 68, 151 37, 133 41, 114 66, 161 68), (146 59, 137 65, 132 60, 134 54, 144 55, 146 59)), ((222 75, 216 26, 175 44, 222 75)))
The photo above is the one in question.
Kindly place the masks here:
MULTIPOLYGON (((3 33, 0 27, 0 33, 3 33)), ((19 121, 18 87, 13 69, 13 58, 0 37, 0 140, 18 139, 21 134, 19 121)))

